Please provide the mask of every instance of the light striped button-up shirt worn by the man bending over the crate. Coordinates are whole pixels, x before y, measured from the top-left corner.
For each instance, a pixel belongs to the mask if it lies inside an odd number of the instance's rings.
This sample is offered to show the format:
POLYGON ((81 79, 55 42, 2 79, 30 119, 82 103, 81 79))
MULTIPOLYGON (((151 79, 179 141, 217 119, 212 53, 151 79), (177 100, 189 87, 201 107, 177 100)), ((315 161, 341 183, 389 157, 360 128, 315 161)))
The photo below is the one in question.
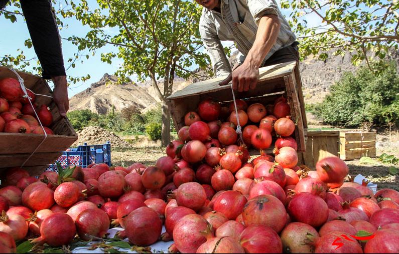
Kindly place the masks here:
POLYGON ((281 14, 276 0, 220 0, 221 12, 203 8, 199 31, 211 59, 216 77, 228 75, 231 66, 220 41, 234 41, 240 52, 239 63, 244 62, 256 38, 260 19, 269 14, 279 17, 281 27, 276 44, 263 62, 276 51, 295 42, 295 34, 281 14))

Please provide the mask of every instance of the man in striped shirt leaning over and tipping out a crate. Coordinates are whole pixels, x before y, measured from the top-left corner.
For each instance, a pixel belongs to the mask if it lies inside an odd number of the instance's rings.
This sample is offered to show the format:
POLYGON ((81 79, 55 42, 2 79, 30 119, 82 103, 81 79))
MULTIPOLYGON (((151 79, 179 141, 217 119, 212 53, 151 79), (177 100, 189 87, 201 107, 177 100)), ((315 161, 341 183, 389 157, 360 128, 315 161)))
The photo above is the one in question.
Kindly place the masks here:
POLYGON ((299 61, 298 43, 275 0, 195 0, 204 7, 200 35, 217 77, 233 89, 254 89, 259 67, 299 61), (234 41, 240 54, 231 67, 220 41, 234 41))

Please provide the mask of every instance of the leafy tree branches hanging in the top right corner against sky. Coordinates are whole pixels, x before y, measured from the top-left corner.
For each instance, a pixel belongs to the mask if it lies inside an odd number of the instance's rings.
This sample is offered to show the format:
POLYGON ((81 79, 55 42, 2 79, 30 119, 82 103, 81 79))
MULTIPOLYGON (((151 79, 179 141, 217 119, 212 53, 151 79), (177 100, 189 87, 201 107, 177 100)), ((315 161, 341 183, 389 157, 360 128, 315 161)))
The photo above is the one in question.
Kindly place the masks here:
POLYGON ((383 59, 398 49, 397 0, 284 0, 281 6, 292 9, 290 25, 299 37, 302 58, 313 54, 325 60, 329 50, 334 55, 356 52, 352 63, 366 60, 371 68, 370 55, 383 59), (321 25, 309 25, 311 20, 321 25))

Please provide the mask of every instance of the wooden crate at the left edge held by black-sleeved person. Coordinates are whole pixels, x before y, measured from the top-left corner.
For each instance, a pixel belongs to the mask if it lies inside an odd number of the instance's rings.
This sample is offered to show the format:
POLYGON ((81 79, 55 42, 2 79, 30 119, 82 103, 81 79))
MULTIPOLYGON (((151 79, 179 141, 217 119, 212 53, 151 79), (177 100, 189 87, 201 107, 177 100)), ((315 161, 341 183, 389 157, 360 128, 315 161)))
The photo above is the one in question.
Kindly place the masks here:
MULTIPOLYGON (((24 72, 18 74, 24 79, 26 88, 36 94, 52 95, 47 82, 41 77, 24 72)), ((11 70, 0 66, 0 79, 7 77, 17 79, 11 70)), ((36 102, 39 106, 45 104, 50 107, 53 115, 53 124, 50 128, 57 135, 48 135, 44 143, 25 163, 24 169, 30 171, 32 176, 43 172, 78 138, 68 119, 62 118, 59 114, 52 98, 36 96, 36 102)), ((5 168, 21 166, 43 139, 44 135, 39 134, 0 133, 0 173, 5 168)))

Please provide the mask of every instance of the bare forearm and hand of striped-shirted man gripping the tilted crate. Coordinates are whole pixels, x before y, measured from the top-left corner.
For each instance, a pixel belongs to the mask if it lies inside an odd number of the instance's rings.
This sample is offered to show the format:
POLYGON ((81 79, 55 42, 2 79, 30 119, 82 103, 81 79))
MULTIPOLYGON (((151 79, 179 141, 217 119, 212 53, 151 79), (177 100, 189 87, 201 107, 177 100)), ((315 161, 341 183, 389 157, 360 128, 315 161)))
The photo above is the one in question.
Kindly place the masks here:
POLYGON ((280 32, 280 21, 276 15, 265 15, 259 20, 255 42, 245 61, 232 73, 233 89, 238 92, 256 87, 259 66, 276 43, 280 32))

